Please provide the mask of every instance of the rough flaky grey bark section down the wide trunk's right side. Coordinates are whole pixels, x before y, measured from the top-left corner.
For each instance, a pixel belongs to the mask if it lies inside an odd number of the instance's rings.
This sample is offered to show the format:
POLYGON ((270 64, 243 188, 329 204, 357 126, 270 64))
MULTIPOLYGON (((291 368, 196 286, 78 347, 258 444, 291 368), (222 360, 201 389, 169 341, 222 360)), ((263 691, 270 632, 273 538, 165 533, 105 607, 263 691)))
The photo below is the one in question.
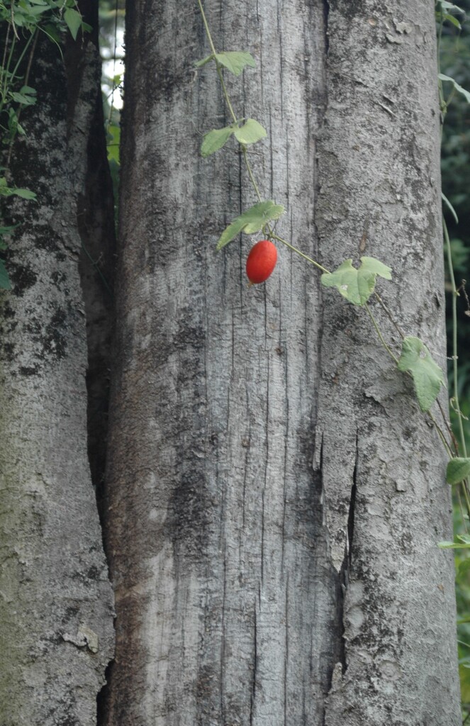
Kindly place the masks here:
MULTIPOLYGON (((380 293, 445 370, 433 4, 383 12, 332 2, 328 36, 315 216, 323 261, 389 264, 394 282, 380 293)), ((458 724, 453 558, 436 546, 452 538, 443 447, 362 311, 323 298, 316 467, 347 582, 345 668, 325 723, 458 724)))

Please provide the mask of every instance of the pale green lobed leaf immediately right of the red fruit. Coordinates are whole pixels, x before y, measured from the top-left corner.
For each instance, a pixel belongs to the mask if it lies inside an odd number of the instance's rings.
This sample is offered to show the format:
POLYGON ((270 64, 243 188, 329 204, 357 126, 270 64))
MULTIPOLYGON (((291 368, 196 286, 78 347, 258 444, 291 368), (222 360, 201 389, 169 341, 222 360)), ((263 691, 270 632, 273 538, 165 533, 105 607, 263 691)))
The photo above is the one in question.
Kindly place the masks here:
POLYGON ((336 287, 353 305, 365 305, 376 287, 377 275, 392 280, 392 270, 374 257, 361 257, 358 269, 352 260, 345 260, 334 272, 324 272, 321 277, 325 287, 336 287))

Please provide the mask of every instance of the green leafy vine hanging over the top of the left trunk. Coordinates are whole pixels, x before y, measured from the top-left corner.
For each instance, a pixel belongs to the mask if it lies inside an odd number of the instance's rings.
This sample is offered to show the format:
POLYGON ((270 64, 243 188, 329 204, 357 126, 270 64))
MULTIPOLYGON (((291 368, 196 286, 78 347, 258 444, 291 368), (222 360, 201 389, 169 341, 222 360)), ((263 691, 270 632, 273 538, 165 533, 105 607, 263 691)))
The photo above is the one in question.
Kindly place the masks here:
MULTIPOLYGON (((9 181, 9 163, 13 142, 27 133, 20 123, 21 112, 37 101, 36 89, 28 85, 28 79, 39 33, 61 52, 64 33, 69 32, 76 40, 80 30, 91 28, 83 22, 77 0, 0 0, 0 25, 6 28, 0 65, 0 148, 6 163, 0 167, 0 197, 36 200, 31 189, 22 189, 9 181)), ((8 247, 6 237, 16 226, 7 226, 0 220, 0 289, 4 290, 9 290, 11 284, 1 255, 8 247)))

